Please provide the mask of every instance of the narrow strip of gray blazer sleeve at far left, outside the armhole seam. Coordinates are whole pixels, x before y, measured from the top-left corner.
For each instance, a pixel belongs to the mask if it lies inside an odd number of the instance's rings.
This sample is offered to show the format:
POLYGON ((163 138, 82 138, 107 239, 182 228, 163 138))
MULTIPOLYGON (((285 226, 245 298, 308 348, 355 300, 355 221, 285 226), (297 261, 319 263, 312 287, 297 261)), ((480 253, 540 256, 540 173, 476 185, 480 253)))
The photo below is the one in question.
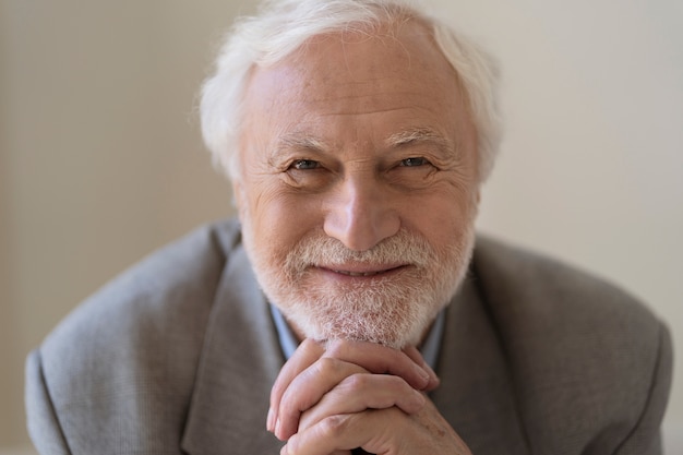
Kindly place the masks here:
POLYGON ((38 453, 71 454, 45 381, 39 350, 26 360, 26 414, 28 433, 38 453))

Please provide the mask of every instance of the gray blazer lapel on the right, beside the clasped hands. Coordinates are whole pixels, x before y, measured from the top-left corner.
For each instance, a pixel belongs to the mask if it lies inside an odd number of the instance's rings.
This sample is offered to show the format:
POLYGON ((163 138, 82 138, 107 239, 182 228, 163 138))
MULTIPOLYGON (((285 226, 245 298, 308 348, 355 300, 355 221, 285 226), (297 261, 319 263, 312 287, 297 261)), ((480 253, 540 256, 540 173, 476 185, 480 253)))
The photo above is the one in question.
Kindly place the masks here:
POLYGON ((434 404, 470 451, 528 454, 510 369, 477 276, 446 312, 434 404))

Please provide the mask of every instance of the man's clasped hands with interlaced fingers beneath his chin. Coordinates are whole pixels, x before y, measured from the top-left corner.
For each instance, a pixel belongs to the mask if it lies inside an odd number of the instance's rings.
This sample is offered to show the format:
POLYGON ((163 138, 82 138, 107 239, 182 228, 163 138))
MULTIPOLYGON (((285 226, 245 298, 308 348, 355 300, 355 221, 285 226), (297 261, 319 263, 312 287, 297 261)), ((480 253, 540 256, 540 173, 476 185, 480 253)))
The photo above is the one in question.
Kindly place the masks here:
POLYGON ((414 348, 305 339, 271 392, 281 455, 470 455, 426 393, 439 379, 414 348))

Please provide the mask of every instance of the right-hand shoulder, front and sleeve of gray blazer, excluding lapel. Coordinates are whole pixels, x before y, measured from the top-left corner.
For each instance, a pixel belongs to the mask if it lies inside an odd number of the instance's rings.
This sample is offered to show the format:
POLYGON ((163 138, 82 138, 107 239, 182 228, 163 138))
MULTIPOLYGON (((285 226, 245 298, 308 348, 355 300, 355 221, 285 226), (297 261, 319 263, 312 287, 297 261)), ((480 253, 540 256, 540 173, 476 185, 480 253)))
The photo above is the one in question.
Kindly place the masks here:
POLYGON ((610 453, 630 438, 657 443, 671 340, 645 304, 602 278, 486 237, 474 276, 531 439, 549 447, 561 438, 588 444, 590 435, 610 453))

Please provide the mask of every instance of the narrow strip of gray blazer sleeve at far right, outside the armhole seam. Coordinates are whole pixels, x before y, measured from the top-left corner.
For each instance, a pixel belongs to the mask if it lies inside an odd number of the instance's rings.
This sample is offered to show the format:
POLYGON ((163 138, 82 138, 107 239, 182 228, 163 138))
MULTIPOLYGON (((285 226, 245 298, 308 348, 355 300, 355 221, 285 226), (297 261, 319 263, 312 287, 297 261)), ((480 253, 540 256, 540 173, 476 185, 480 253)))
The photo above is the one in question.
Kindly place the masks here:
POLYGON ((659 349, 655 354, 657 362, 647 402, 633 431, 615 452, 616 455, 659 455, 662 453, 660 427, 667 409, 673 363, 671 336, 663 324, 659 339, 659 349))

